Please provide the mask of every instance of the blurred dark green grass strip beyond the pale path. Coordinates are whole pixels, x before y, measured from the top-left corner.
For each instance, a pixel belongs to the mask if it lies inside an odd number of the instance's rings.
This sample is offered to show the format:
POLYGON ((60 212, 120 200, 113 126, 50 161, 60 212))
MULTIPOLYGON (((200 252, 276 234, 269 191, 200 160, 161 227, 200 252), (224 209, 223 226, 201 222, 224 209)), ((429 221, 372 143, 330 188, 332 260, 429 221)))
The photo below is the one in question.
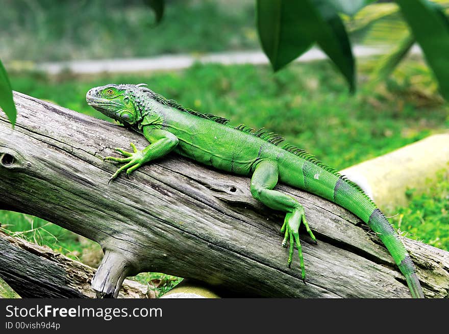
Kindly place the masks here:
POLYGON ((254 12, 253 0, 172 0, 155 26, 142 0, 3 0, 0 55, 42 62, 259 48, 254 12))

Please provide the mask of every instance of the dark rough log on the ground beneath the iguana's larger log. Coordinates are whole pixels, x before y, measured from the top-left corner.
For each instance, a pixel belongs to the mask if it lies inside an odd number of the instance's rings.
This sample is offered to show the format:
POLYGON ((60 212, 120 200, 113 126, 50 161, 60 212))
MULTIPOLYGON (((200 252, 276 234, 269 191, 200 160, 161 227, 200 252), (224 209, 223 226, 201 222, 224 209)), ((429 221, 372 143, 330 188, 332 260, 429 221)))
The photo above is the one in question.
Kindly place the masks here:
MULTIPOLYGON (((95 269, 0 231, 0 277, 25 298, 93 298, 95 269)), ((150 291, 151 293, 152 291, 150 291)), ((127 279, 119 298, 147 298, 148 288, 127 279)), ((153 295, 154 297, 154 295, 153 295)))

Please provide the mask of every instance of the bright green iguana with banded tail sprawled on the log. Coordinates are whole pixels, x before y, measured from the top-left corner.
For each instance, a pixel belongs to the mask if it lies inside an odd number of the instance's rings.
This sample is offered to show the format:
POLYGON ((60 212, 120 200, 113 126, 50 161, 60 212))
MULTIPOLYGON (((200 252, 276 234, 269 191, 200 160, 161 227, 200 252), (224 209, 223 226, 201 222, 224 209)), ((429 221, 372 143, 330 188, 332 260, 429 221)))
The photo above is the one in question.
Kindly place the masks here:
POLYGON ((305 268, 298 230, 307 223, 303 206, 293 197, 273 190, 278 182, 326 198, 351 211, 379 236, 404 274, 412 297, 423 297, 412 260, 395 230, 376 204, 352 181, 318 161, 303 149, 284 142, 263 129, 244 125, 233 127, 229 120, 184 108, 139 85, 114 85, 92 88, 86 99, 103 114, 143 134, 150 143, 143 150, 130 144, 133 152, 115 148, 126 158, 106 157, 125 163, 110 178, 122 171, 133 172, 145 163, 174 151, 213 168, 251 176, 251 194, 267 207, 286 213, 281 233, 282 246, 290 243, 288 265, 296 244, 302 278, 305 268))

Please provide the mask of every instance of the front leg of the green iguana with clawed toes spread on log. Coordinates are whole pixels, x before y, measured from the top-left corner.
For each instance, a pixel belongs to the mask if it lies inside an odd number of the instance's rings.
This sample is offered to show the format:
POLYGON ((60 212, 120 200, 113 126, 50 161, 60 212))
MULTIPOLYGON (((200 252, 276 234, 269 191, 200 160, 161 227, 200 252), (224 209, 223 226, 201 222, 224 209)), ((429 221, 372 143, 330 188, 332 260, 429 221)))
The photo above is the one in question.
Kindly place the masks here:
POLYGON ((128 152, 117 147, 114 148, 117 152, 121 153, 127 158, 104 158, 104 160, 127 163, 126 165, 121 166, 119 169, 117 169, 117 171, 109 179, 109 182, 115 179, 123 170, 126 169, 127 174, 130 174, 148 161, 165 156, 168 152, 173 150, 173 148, 178 145, 178 138, 168 131, 152 129, 149 126, 144 126, 143 135, 150 143, 144 149, 138 150, 133 143, 130 143, 131 147, 133 148, 133 152, 128 152))

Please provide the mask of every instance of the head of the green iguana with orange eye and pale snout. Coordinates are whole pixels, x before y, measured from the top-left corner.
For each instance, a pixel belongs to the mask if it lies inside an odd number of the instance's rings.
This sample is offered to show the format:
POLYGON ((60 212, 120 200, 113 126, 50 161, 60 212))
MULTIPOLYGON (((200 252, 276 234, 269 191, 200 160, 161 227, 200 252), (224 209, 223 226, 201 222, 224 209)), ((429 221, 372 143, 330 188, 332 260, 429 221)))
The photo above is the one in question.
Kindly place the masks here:
POLYGON ((136 95, 140 85, 114 85, 95 87, 86 94, 87 104, 121 123, 134 124, 141 116, 136 95))

